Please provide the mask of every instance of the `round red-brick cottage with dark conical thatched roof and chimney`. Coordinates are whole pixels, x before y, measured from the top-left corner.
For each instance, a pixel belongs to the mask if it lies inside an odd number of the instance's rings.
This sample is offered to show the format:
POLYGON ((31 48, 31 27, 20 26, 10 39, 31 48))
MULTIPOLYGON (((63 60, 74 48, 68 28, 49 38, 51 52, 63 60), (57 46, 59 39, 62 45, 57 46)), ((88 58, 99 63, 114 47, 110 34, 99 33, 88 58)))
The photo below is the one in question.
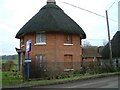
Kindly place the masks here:
POLYGON ((25 66, 27 57, 26 42, 32 41, 30 78, 44 77, 46 72, 54 76, 57 72, 75 71, 81 67, 81 41, 86 34, 56 5, 55 0, 48 0, 15 37, 20 39, 20 49, 17 50, 22 66, 25 66))

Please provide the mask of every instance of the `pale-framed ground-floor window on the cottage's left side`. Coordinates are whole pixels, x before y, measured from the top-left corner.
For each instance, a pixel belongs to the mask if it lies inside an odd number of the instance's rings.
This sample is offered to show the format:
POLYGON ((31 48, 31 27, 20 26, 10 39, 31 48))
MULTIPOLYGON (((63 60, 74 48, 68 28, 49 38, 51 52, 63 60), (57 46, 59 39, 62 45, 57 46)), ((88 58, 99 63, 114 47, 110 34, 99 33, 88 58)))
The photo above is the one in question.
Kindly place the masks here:
POLYGON ((43 55, 43 54, 36 55, 36 67, 37 67, 37 69, 43 68, 44 62, 45 62, 45 55, 43 55))

